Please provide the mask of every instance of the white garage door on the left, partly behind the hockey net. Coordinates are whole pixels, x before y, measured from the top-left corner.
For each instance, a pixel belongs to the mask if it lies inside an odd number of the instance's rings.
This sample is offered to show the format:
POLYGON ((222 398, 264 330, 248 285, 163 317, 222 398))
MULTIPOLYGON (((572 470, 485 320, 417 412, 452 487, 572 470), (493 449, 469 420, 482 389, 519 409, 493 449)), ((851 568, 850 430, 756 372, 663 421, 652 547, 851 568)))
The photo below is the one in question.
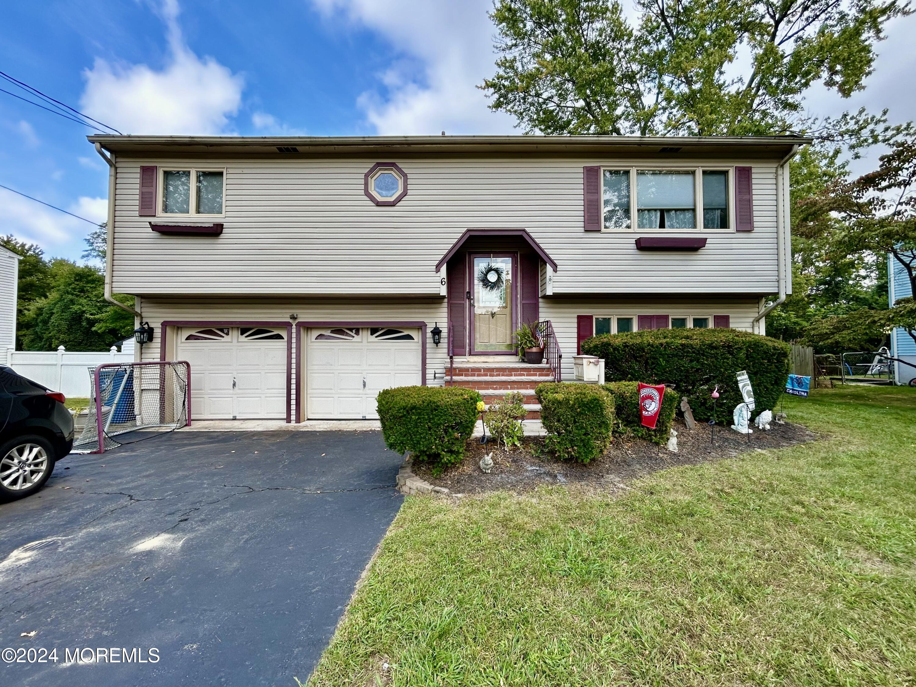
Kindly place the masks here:
POLYGON ((182 327, 178 359, 191 363, 191 419, 285 420, 286 338, 270 327, 182 327))

